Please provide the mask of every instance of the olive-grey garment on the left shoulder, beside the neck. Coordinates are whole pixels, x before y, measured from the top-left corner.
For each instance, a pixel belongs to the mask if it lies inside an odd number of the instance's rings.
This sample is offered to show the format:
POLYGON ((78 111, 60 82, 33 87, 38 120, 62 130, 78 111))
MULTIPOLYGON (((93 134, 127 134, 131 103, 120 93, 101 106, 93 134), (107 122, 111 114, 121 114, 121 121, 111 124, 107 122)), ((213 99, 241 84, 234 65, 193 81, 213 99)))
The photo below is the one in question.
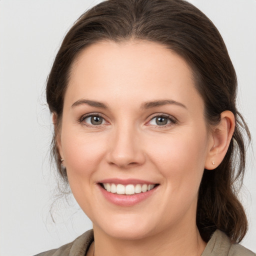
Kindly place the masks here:
POLYGON ((47 250, 34 256, 84 256, 93 241, 93 230, 88 230, 70 243, 57 249, 47 250))

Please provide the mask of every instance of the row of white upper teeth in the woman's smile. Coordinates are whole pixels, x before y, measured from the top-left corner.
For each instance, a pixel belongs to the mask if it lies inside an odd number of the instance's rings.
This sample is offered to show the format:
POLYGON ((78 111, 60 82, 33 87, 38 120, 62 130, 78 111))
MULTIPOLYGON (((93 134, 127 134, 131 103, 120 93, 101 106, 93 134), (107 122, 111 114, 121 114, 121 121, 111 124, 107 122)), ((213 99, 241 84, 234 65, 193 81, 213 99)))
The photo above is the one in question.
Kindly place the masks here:
POLYGON ((124 186, 123 184, 114 183, 103 183, 103 187, 106 191, 117 194, 134 194, 146 192, 153 189, 155 184, 128 184, 124 186))

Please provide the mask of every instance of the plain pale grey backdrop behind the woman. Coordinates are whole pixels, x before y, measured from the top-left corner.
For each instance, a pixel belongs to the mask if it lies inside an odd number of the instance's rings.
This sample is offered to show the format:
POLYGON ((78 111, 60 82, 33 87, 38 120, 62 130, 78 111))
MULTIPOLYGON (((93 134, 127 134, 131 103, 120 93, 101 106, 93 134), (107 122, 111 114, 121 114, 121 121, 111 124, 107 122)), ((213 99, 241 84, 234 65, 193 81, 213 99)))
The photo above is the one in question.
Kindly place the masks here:
MULTIPOLYGON (((226 42, 238 77, 238 106, 255 148, 256 0, 190 1, 208 15, 226 42)), ((97 2, 0 0, 0 256, 33 255, 91 228, 72 198, 68 203, 64 198, 57 200, 44 87, 64 34, 97 2)), ((252 147, 240 197, 249 220, 242 244, 256 251, 252 147)))

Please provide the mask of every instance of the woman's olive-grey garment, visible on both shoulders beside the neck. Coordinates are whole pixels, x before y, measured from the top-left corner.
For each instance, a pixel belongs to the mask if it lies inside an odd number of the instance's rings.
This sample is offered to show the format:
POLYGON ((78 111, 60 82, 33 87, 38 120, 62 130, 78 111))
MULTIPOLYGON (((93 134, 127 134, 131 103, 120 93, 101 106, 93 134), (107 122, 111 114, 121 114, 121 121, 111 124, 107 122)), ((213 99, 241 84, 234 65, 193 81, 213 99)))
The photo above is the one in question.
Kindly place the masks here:
MULTIPOLYGON (((77 237, 73 242, 34 256, 85 256, 92 241, 93 230, 91 229, 77 237)), ((207 242, 201 256, 256 256, 256 254, 240 244, 231 244, 227 235, 216 230, 207 242)))

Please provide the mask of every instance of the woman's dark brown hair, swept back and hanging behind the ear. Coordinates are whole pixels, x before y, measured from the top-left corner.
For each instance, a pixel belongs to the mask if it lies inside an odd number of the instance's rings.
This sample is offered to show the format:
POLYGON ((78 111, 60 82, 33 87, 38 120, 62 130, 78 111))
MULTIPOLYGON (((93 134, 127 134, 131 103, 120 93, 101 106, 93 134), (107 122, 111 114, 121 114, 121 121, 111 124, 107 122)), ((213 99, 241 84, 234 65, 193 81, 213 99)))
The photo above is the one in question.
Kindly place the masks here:
MULTIPOLYGON (((236 109, 236 75, 223 39, 213 23, 192 4, 184 0, 107 0, 81 15, 64 37, 47 80, 47 102, 57 116, 56 133, 61 125, 70 66, 79 52, 100 40, 128 39, 164 44, 188 62, 204 100, 208 124, 216 124, 224 110, 233 112, 236 126, 227 153, 219 166, 203 173, 196 223, 205 241, 216 228, 233 242, 240 241, 246 233, 247 220, 234 181, 241 184, 245 168, 242 130, 249 139, 250 134, 236 109)), ((52 153, 59 173, 67 181, 55 135, 52 153)))

